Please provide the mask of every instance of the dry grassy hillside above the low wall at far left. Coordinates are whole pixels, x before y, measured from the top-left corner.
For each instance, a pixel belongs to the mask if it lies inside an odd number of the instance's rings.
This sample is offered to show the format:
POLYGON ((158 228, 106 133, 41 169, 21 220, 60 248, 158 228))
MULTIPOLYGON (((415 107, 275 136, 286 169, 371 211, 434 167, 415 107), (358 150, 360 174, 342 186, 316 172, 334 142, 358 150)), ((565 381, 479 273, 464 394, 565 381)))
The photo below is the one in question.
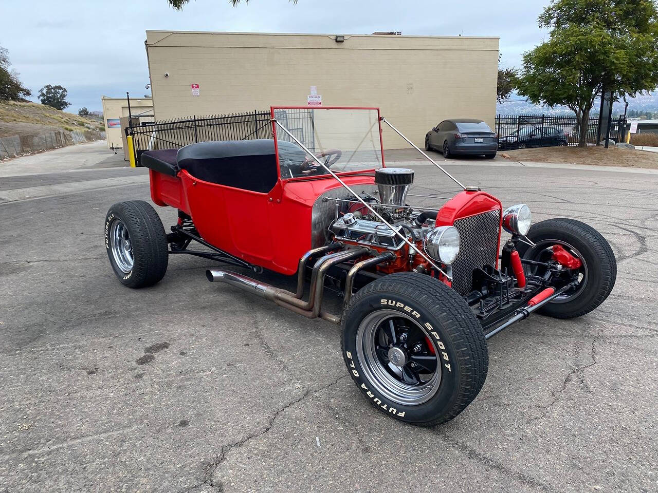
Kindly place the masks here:
POLYGON ((51 106, 0 101, 0 137, 36 135, 52 129, 105 130, 98 120, 66 113, 51 106))

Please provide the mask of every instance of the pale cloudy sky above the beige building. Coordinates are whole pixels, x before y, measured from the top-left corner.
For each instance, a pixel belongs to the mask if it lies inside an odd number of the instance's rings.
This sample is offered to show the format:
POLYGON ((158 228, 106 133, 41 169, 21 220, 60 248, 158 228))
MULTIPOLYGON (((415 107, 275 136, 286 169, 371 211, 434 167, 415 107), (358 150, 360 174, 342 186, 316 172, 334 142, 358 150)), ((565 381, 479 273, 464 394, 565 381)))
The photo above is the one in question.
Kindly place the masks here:
POLYGON ((0 46, 34 94, 45 84, 68 89, 67 111, 100 110, 101 95, 147 94, 146 30, 499 36, 503 66, 545 35, 537 16, 547 0, 167 0, 0 2, 0 46))

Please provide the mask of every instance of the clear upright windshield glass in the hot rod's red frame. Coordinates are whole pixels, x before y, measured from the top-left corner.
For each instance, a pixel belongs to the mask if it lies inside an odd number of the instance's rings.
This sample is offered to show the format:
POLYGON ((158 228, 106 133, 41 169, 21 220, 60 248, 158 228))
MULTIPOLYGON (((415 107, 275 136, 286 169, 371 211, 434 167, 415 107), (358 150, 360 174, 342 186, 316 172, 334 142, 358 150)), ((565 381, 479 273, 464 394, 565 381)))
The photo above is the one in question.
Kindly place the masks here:
POLYGON ((328 172, 280 127, 294 135, 334 173, 381 168, 378 110, 274 108, 281 177, 327 175, 328 172))

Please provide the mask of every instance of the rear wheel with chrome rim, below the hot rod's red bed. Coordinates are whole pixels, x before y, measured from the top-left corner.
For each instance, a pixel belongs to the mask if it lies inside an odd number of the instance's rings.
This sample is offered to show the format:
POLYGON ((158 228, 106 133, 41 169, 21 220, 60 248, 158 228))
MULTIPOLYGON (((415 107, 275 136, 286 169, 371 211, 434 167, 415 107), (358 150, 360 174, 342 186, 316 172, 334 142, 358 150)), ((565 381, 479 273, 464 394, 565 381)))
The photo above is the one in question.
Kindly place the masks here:
POLYGON ((131 288, 152 286, 169 260, 163 223, 143 200, 118 202, 105 216, 105 248, 119 281, 131 288))

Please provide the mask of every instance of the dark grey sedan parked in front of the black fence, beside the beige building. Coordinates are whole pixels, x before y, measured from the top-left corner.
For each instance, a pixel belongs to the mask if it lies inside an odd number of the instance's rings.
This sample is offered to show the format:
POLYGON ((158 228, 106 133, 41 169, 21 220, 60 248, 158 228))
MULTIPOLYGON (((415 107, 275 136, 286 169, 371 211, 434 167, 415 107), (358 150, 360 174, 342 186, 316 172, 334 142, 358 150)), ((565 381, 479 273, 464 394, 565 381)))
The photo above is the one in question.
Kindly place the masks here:
POLYGON ((497 149, 495 132, 486 122, 473 118, 443 120, 425 135, 425 150, 440 151, 444 158, 453 154, 484 154, 495 158, 497 149))

